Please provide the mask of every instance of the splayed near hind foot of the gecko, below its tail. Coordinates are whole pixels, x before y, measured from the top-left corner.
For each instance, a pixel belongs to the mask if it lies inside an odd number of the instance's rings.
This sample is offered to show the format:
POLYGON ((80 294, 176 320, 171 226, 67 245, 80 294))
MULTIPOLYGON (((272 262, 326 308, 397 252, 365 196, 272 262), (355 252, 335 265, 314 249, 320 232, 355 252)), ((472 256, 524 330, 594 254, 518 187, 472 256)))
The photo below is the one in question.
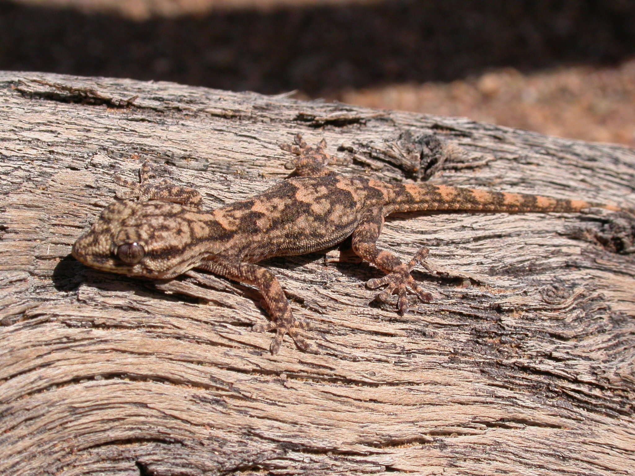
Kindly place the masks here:
POLYGON ((424 302, 432 301, 432 294, 424 291, 424 289, 419 286, 415 279, 410 275, 412 269, 417 266, 420 261, 424 260, 427 255, 428 249, 422 248, 407 264, 399 265, 392 272, 382 278, 370 279, 366 282, 366 286, 371 289, 386 286, 384 291, 375 296, 375 300, 387 302, 392 294, 397 294, 397 307, 400 314, 406 314, 406 312, 408 312, 408 288, 414 291, 420 300, 424 302))

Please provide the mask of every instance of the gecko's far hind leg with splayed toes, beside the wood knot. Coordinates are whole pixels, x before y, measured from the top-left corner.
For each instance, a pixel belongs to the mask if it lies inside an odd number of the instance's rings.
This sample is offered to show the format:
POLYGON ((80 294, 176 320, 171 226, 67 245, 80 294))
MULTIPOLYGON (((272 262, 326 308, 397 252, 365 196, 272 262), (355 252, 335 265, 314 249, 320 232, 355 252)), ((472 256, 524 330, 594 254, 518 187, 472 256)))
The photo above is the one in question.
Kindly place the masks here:
POLYGON ((295 136, 295 140, 293 140, 292 144, 280 145, 280 149, 297 155, 295 159, 286 162, 284 168, 288 170, 293 169, 292 175, 320 177, 333 175, 335 173, 328 168, 327 165, 348 164, 351 162, 350 159, 327 154, 324 152, 325 148, 326 140, 322 139, 316 147, 309 147, 304 139, 302 139, 302 136, 298 134, 295 136))

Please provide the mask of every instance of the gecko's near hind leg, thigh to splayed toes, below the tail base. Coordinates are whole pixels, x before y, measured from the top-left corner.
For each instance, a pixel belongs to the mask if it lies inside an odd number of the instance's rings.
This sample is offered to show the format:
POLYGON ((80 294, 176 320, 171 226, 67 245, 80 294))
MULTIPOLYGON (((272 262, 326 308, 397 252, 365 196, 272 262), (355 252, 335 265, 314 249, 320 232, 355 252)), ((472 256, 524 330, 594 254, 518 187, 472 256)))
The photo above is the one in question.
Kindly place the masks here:
POLYGON ((384 291, 377 294, 376 299, 387 301, 392 294, 397 294, 399 312, 405 314, 408 312, 408 288, 414 291, 420 300, 425 302, 432 300, 432 294, 424 291, 410 275, 411 270, 427 256, 428 249, 421 248, 408 263, 402 263, 397 256, 389 251, 380 250, 375 245, 383 224, 382 209, 380 207, 370 209, 352 234, 352 248, 358 256, 370 261, 386 273, 384 277, 370 279, 366 283, 366 286, 371 289, 386 286, 384 291))

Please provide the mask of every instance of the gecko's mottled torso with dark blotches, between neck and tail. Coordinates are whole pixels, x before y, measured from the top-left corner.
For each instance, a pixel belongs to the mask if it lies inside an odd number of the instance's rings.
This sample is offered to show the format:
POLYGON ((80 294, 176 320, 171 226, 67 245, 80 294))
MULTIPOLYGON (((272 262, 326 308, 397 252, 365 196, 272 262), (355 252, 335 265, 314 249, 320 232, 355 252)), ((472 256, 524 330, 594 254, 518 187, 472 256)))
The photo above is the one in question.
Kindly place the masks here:
POLYGON ((302 255, 344 241, 366 209, 380 206, 380 190, 364 178, 341 175, 296 177, 215 209, 215 220, 236 236, 225 253, 256 262, 271 256, 302 255))

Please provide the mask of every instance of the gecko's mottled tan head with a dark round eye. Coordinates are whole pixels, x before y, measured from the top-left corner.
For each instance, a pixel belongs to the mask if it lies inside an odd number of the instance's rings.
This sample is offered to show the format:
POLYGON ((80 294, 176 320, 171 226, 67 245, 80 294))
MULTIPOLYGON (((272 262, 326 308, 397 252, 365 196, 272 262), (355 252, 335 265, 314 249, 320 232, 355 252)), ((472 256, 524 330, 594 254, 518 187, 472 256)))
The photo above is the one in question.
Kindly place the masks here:
POLYGON ((196 212, 161 201, 119 201, 107 206, 72 247, 72 255, 99 270, 168 279, 192 268, 192 246, 205 230, 196 212), (192 225, 194 223, 194 225, 192 225))

